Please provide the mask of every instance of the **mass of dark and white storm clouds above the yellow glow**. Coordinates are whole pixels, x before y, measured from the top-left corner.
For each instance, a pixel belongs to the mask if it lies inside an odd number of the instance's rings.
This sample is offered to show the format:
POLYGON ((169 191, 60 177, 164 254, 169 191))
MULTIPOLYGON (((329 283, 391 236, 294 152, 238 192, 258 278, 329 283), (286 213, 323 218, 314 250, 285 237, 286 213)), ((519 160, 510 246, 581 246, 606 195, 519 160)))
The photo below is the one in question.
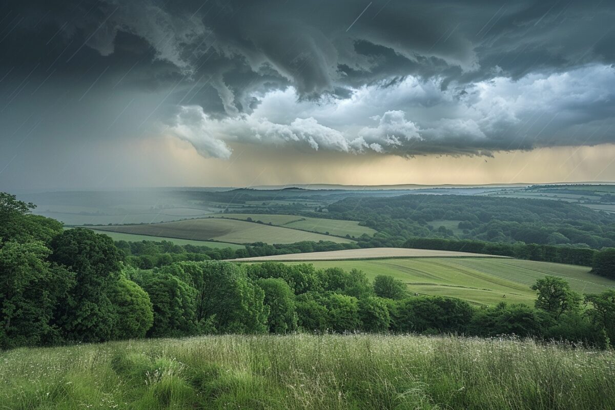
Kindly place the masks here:
POLYGON ((224 159, 615 142, 608 1, 9 1, 0 18, 4 138, 174 135, 224 159))

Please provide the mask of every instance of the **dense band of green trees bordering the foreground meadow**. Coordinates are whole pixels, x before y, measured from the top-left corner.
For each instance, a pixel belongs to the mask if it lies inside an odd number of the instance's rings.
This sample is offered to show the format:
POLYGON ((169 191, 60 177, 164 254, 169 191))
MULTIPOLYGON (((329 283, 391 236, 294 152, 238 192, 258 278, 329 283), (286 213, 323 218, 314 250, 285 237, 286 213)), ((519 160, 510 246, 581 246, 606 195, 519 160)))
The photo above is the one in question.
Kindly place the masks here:
MULTIPOLYGON (((309 264, 205 260, 138 269, 108 236, 65 231, 54 219, 32 215, 33 204, 0 195, 3 349, 295 331, 515 334, 598 347, 615 341, 615 291, 583 297, 560 278, 546 277, 533 286, 534 307, 477 307, 409 295, 392 277, 370 282, 358 270, 309 264)), ((608 254, 605 259, 612 262, 608 254)))

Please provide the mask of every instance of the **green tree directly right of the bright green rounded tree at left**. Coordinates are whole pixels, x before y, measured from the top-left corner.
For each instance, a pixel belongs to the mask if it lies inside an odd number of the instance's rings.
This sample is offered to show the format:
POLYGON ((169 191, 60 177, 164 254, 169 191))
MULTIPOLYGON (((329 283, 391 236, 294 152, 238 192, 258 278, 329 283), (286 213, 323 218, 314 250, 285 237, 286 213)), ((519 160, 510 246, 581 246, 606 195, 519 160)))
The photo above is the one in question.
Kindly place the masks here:
POLYGON ((147 336, 178 337, 196 333, 194 301, 196 290, 167 273, 143 270, 135 282, 146 291, 154 309, 154 324, 147 336))

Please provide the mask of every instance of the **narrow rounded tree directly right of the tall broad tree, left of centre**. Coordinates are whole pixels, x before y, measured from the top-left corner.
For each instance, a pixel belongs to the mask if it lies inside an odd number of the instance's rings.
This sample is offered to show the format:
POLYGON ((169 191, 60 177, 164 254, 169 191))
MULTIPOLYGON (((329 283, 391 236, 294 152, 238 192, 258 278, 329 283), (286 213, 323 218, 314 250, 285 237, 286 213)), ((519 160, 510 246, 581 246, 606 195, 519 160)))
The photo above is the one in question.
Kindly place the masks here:
POLYGON ((288 283, 279 278, 263 278, 257 280, 256 285, 264 291, 264 304, 269 307, 269 332, 280 334, 295 331, 295 294, 288 283))

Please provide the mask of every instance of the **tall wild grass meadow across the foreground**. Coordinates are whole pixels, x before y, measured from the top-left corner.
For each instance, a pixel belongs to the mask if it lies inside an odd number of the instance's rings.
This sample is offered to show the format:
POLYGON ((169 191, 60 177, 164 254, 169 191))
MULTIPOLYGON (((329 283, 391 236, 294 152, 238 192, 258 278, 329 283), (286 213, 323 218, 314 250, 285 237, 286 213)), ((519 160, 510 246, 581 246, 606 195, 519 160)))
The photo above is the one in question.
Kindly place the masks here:
POLYGON ((424 336, 211 336, 0 355, 6 409, 612 409, 615 355, 424 336))

